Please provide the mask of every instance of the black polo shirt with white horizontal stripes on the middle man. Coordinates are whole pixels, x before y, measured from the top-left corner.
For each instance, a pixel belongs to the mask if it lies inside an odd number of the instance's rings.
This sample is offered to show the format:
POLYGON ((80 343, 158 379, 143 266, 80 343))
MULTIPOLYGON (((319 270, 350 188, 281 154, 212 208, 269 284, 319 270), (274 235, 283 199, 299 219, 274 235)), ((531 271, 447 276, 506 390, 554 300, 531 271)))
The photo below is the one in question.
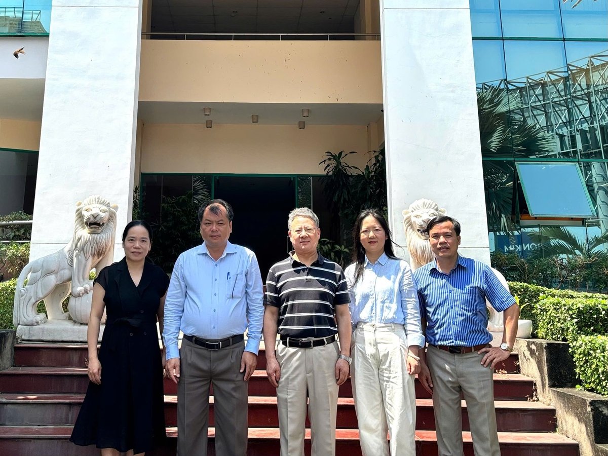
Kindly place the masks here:
POLYGON ((320 254, 310 266, 290 254, 268 271, 264 305, 279 308, 278 333, 282 336, 303 339, 336 334, 336 306, 348 302, 342 268, 320 254))

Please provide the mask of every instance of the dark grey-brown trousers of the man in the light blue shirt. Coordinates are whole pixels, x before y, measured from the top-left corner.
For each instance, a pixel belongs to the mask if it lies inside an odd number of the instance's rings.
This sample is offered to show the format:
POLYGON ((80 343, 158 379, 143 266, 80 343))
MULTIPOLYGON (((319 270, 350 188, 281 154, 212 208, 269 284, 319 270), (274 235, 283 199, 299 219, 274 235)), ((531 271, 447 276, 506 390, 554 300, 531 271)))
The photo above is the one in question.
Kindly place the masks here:
POLYGON ((209 387, 213 385, 215 454, 245 456, 249 394, 243 381, 244 342, 207 350, 182 340, 179 349, 178 456, 207 456, 209 387))

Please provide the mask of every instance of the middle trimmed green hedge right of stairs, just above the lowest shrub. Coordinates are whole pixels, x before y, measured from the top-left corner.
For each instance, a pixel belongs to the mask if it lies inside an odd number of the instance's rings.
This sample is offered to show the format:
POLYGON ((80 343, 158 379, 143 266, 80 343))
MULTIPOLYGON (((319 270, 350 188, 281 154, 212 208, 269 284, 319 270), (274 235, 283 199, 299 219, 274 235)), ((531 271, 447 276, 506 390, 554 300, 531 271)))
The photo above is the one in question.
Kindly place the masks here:
POLYGON ((608 300, 546 297, 534 308, 541 339, 572 342, 579 336, 608 334, 608 300))

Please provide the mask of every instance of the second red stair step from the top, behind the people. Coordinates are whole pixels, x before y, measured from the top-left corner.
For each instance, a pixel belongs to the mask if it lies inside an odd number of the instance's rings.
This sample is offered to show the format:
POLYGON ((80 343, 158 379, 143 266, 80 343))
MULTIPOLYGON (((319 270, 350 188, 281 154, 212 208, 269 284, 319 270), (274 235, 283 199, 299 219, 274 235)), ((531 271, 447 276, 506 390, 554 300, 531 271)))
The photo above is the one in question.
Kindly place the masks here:
MULTIPOLYGON (((12 367, 0 371, 1 393, 84 393, 89 384, 85 367, 12 367)), ((430 395, 415 382, 416 397, 430 395)), ((534 382, 520 374, 494 374, 494 398, 497 400, 525 400, 533 396, 534 382)), ((177 385, 165 379, 165 394, 177 394, 177 385)), ((256 370, 249 380, 250 396, 275 396, 276 390, 268 381, 266 371, 256 370)), ((352 397, 350 378, 340 386, 340 397, 352 397)))

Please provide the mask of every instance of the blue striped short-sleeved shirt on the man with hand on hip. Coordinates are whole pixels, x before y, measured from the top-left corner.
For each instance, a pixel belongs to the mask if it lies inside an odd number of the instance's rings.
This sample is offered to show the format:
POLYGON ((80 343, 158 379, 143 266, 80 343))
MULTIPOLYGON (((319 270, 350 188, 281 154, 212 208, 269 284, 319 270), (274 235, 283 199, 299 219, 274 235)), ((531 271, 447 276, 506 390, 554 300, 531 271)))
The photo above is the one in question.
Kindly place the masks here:
POLYGON ((426 340, 431 345, 473 347, 488 344, 486 298, 501 312, 515 303, 492 269, 480 261, 458 255, 449 274, 435 261, 414 272, 421 316, 426 318, 426 340))

